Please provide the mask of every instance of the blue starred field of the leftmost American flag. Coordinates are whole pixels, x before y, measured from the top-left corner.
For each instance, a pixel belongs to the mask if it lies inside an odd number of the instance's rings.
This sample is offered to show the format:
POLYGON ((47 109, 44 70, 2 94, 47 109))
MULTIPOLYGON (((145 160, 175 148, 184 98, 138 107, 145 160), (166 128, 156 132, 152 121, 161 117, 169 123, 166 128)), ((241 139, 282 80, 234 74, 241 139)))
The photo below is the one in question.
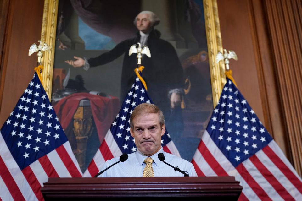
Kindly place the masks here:
MULTIPOLYGON (((36 155, 32 155, 34 152, 40 153, 42 151, 43 153, 48 153, 45 149, 40 149, 41 143, 50 145, 51 140, 46 139, 46 137, 52 135, 53 139, 59 139, 60 133, 63 132, 59 124, 50 121, 53 117, 56 118, 54 121, 59 119, 53 113, 53 107, 50 105, 49 100, 46 100, 44 89, 42 90, 41 84, 36 83, 36 80, 37 78, 34 77, 30 82, 16 104, 14 111, 10 113, 6 120, 5 127, 1 128, 1 133, 7 133, 7 130, 10 130, 10 138, 15 141, 15 149, 12 154, 17 161, 20 160, 18 162, 20 168, 36 160, 36 155), (54 131, 53 125, 55 125, 54 128, 58 133, 52 134, 54 131), (49 131, 47 131, 48 128, 50 129, 49 131), (42 133, 45 133, 44 137, 41 135, 42 133)), ((8 136, 3 138, 5 141, 10 142, 8 136)), ((65 137, 62 140, 61 142, 65 142, 67 138, 65 137)))

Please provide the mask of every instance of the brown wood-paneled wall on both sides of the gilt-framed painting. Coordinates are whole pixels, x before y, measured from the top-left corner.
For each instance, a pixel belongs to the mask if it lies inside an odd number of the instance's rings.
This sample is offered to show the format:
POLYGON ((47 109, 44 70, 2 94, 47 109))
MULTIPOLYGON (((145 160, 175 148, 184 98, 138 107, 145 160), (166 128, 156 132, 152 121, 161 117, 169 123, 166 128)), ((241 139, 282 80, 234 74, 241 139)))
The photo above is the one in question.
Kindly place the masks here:
MULTIPOLYGON (((40 38, 43 1, 0 2, 0 125, 33 75, 28 48, 40 38)), ((239 90, 301 176, 300 0, 217 0, 223 47, 239 90)))

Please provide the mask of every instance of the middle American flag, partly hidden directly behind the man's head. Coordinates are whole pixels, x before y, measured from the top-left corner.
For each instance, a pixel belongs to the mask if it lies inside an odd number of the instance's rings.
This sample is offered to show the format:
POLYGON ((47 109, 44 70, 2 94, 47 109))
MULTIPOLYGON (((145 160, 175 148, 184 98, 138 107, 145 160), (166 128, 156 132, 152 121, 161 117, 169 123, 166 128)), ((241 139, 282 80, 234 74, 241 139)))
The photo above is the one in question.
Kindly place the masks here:
MULTIPOLYGON (((102 144, 94 155, 83 177, 94 177, 103 167, 107 160, 120 157, 123 153, 131 154, 137 150, 137 147, 130 134, 130 116, 134 108, 141 103, 152 103, 148 93, 141 80, 136 77, 128 95, 122 103, 120 112, 116 115, 111 124, 102 144)), ((179 152, 171 140, 167 129, 162 136, 161 145, 165 152, 179 155, 179 152)))

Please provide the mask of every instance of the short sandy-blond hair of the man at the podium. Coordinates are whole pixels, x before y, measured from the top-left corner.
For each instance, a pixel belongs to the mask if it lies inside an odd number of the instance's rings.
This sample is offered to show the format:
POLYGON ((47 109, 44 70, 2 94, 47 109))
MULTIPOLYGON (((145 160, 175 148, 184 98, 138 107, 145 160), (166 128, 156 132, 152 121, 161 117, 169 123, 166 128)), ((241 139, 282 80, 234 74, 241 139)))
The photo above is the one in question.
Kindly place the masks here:
POLYGON ((134 124, 133 121, 137 116, 140 116, 141 114, 158 114, 158 121, 160 128, 165 125, 165 117, 163 112, 159 109, 158 106, 152 104, 152 103, 142 103, 134 108, 132 111, 131 117, 130 117, 130 128, 133 130, 134 124))

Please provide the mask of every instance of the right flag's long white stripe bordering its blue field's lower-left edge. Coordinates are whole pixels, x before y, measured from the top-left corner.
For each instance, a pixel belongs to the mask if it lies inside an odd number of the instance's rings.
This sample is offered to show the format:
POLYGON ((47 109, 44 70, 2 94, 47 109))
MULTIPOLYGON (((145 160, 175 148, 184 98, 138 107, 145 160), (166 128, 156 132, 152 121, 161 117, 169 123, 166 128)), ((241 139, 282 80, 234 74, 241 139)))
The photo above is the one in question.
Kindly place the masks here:
MULTIPOLYGON (((221 150, 216 146, 210 137, 207 130, 205 130, 202 141, 205 146, 209 149, 215 160, 220 164, 220 166, 226 171, 229 176, 234 176, 236 181, 240 182, 240 185, 243 186, 242 192, 249 200, 260 200, 257 194, 251 189, 249 184, 241 177, 236 168, 232 165, 232 163, 223 155, 221 150)), ((195 161, 196 162, 196 161, 195 161)))

